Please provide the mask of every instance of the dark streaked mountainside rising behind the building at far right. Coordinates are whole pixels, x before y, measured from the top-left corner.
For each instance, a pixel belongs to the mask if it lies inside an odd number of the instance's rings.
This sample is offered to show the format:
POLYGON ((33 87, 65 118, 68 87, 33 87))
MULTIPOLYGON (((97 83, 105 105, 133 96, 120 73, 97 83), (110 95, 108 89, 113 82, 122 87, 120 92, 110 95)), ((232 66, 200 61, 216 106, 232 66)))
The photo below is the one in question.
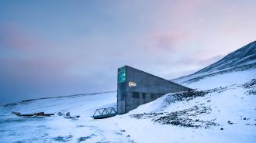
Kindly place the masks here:
POLYGON ((244 71, 254 68, 256 68, 256 41, 237 49, 233 53, 223 57, 223 59, 216 63, 206 66, 202 70, 172 81, 176 83, 193 83, 205 77, 211 77, 217 74, 232 73, 234 71, 244 71))

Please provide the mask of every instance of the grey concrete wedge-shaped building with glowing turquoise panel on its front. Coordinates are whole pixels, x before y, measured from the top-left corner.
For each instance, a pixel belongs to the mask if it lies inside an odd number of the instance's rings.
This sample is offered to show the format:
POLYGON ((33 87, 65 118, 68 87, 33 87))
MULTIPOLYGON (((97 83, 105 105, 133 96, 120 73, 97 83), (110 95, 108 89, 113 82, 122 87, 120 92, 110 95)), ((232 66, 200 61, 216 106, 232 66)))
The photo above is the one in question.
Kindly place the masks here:
POLYGON ((117 112, 125 114, 164 94, 185 90, 190 89, 133 67, 123 66, 118 69, 117 112))

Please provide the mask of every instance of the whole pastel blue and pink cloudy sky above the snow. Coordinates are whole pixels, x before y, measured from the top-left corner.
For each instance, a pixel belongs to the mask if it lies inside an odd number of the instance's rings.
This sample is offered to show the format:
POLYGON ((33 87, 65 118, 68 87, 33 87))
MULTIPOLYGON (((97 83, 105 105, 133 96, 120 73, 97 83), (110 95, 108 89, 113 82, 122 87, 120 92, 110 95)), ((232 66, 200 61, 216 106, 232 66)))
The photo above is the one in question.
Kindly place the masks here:
POLYGON ((171 80, 256 39, 255 0, 0 1, 0 104, 171 80))

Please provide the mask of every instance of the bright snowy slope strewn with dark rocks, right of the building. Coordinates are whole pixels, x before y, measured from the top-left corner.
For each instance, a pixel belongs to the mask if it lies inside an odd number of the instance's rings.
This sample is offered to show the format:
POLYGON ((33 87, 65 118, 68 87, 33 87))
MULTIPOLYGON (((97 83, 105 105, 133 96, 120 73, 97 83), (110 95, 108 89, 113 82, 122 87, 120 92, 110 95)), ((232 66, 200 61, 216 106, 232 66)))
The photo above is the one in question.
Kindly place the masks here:
POLYGON ((168 94, 116 122, 137 142, 256 142, 255 77, 256 70, 209 77, 189 84, 214 89, 209 94, 183 100, 168 94))

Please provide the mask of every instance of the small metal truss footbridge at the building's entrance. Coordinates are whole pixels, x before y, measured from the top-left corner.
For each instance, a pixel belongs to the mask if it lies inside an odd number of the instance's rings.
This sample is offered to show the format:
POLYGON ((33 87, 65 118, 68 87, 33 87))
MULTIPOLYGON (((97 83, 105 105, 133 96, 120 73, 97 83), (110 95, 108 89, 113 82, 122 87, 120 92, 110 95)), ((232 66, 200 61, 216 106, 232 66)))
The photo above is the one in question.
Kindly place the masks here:
POLYGON ((94 119, 102 119, 106 117, 116 116, 117 112, 113 107, 99 108, 93 114, 94 119))

